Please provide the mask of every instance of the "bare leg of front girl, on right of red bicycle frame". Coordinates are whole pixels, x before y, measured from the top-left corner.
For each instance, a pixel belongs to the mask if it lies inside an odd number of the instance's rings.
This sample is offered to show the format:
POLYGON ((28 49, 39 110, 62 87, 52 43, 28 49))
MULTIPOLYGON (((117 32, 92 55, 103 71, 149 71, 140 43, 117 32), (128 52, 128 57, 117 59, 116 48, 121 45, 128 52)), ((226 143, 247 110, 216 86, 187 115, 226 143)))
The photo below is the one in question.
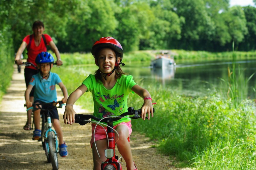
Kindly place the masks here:
POLYGON ((119 139, 118 135, 115 134, 115 140, 117 141, 118 139, 118 141, 116 142, 117 149, 125 160, 127 170, 136 169, 132 160, 131 146, 127 140, 127 138, 129 137, 128 128, 125 125, 118 125, 116 127, 116 131, 119 134, 119 139))

